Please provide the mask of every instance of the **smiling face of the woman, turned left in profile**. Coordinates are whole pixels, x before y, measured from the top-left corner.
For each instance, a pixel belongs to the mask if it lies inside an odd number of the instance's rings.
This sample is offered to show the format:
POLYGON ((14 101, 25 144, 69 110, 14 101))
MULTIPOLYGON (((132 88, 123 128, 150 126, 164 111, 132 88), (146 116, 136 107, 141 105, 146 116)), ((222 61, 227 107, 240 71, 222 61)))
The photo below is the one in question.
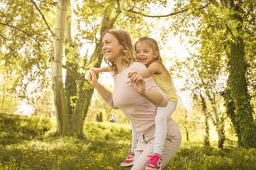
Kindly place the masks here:
POLYGON ((123 46, 119 45, 117 38, 111 33, 106 33, 102 40, 102 52, 106 60, 117 60, 122 57, 123 46))

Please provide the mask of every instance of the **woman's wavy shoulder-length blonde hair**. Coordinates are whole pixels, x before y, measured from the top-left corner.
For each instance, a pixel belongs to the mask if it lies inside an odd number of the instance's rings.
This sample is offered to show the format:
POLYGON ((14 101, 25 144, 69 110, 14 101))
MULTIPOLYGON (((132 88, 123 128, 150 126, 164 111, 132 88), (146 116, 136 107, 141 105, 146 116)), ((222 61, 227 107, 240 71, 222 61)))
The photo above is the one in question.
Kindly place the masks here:
MULTIPOLYGON (((125 30, 111 28, 109 30, 106 30, 103 36, 106 33, 111 33, 112 35, 114 35, 114 37, 117 38, 119 45, 122 45, 124 47, 122 61, 126 67, 129 67, 130 64, 136 62, 136 57, 134 57, 134 47, 132 45, 132 40, 125 30)), ((106 60, 106 58, 104 57, 104 61, 109 65, 110 71, 114 72, 114 75, 118 73, 117 65, 114 64, 112 60, 106 60)))

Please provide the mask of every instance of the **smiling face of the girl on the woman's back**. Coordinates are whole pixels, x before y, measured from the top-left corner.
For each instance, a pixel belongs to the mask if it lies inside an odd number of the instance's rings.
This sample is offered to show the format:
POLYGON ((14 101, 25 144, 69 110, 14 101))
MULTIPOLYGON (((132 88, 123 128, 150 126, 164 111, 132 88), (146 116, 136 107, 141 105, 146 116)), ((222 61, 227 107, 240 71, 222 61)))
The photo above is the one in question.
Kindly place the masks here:
POLYGON ((146 65, 157 57, 157 52, 154 52, 148 42, 139 41, 136 44, 136 57, 138 62, 146 65))

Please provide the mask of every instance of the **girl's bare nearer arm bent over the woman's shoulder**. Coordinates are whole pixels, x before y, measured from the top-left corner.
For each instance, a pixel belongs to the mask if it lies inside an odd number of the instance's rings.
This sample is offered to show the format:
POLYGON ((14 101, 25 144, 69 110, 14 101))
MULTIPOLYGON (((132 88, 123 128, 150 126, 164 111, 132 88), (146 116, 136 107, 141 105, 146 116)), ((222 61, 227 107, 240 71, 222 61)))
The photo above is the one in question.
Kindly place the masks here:
POLYGON ((150 77, 152 74, 162 74, 164 72, 164 68, 161 66, 159 62, 152 62, 149 67, 146 69, 142 69, 142 71, 132 71, 129 72, 128 77, 132 77, 134 74, 139 74, 141 77, 150 77))

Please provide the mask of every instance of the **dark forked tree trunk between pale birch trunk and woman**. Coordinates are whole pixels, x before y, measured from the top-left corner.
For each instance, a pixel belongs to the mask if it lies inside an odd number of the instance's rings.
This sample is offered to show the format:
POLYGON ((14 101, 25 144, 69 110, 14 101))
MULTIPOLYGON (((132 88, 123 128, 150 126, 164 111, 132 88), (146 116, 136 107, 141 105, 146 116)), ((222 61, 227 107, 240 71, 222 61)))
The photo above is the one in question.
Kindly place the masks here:
MULTIPOLYGON (((114 4, 110 4, 107 6, 104 17, 102 18, 102 28, 100 31, 100 40, 97 42, 95 51, 90 58, 89 64, 90 67, 100 67, 103 59, 102 53, 102 34, 105 32, 107 28, 112 28, 114 22, 119 16, 120 12, 117 12, 114 18, 110 18, 112 15, 112 11, 114 11, 114 4)), ((70 21, 71 16, 68 16, 68 23, 70 21)), ((72 40, 70 36, 70 24, 66 24, 66 33, 65 33, 65 40, 67 42, 67 48, 65 49, 66 56, 70 52, 68 49, 68 45, 72 47, 72 40)), ((74 55, 74 54, 72 54, 74 55)), ((66 124, 69 129, 69 135, 76 136, 76 137, 84 137, 83 134, 83 125, 87 115, 88 108, 90 106, 90 101, 93 94, 93 87, 85 81, 84 76, 78 73, 78 65, 73 64, 72 60, 76 60, 75 56, 70 58, 70 61, 66 62, 66 81, 65 81, 65 95, 67 97, 67 110, 68 110, 68 120, 69 122, 66 124), (78 81, 75 81, 78 80, 78 81), (85 88, 86 86, 86 88, 85 88), (78 87, 78 89, 77 89, 78 87), (77 98, 72 98, 73 96, 78 96, 77 98), (75 107, 70 106, 70 103, 75 103, 75 107)), ((84 67, 87 67, 88 63, 85 61, 84 67)), ((89 69, 89 68, 88 68, 89 69)))

